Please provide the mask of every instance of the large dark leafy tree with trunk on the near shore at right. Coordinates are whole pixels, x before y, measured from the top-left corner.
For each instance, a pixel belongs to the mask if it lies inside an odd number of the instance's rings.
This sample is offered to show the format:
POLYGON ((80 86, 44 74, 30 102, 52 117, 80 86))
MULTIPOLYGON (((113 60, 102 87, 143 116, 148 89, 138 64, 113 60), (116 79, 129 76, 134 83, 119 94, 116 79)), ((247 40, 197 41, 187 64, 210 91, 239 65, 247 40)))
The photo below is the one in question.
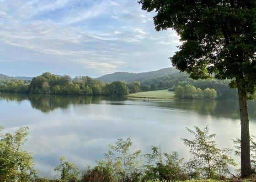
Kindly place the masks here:
POLYGON ((193 79, 232 79, 241 120, 241 175, 251 174, 247 96, 256 91, 255 0, 139 0, 157 13, 157 31, 172 28, 182 45, 172 65, 193 79))

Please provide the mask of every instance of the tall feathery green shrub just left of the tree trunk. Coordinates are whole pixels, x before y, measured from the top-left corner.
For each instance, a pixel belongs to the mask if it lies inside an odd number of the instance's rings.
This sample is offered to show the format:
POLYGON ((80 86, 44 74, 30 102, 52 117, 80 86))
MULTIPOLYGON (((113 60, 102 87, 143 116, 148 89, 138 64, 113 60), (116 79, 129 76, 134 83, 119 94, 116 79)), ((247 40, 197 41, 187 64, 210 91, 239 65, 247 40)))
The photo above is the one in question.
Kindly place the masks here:
POLYGON ((209 134, 206 126, 203 130, 194 126, 195 131, 187 128, 194 136, 193 140, 182 139, 190 147, 193 158, 187 163, 192 178, 222 178, 230 174, 229 166, 236 166, 234 159, 228 157, 230 149, 219 149, 213 140, 215 134, 209 134))

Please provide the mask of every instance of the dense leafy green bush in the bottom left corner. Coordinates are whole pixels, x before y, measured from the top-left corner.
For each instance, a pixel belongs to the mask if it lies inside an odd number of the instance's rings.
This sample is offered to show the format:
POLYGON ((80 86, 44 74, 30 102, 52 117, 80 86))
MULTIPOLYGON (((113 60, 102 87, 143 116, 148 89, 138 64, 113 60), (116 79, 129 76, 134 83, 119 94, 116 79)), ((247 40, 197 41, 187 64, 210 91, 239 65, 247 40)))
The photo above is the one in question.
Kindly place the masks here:
MULTIPOLYGON (((0 127, 0 131, 3 127, 0 127)), ((28 128, 18 129, 15 134, 0 134, 0 181, 31 182, 35 177, 31 153, 23 150, 28 128)))

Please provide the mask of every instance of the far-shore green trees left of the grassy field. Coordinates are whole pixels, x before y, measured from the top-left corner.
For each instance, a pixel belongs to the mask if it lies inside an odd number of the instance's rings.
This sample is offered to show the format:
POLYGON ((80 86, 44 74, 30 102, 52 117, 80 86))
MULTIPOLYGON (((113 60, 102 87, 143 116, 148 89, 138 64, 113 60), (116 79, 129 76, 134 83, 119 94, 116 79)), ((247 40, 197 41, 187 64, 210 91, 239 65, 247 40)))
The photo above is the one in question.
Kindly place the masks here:
MULTIPOLYGON (((135 82, 133 91, 139 91, 139 82, 135 82)), ((124 82, 110 83, 104 86, 102 81, 89 76, 77 76, 74 80, 68 75, 56 76, 49 72, 33 77, 31 82, 21 80, 0 81, 0 92, 41 93, 58 95, 113 95, 124 96, 128 88, 124 82), (108 88, 107 88, 108 87, 108 88), (104 93, 103 91, 104 90, 104 93)))

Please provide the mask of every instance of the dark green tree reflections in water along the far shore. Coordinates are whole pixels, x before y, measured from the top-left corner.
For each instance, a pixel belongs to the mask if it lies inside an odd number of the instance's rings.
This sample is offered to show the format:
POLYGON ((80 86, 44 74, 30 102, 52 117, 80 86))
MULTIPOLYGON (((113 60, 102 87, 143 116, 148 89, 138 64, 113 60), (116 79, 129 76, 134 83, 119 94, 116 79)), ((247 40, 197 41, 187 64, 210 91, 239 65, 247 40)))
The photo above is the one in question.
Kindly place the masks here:
MULTIPOLYGON (((70 105, 85 105, 85 104, 104 104, 109 105, 146 105, 158 106, 179 110, 196 111, 200 115, 212 115, 216 117, 224 117, 231 119, 239 119, 239 105, 236 100, 184 100, 174 102, 142 102, 128 101, 125 97, 105 97, 105 96, 56 96, 43 94, 0 94, 0 98, 6 101, 21 102, 28 100, 31 106, 44 113, 48 113, 55 109, 67 109, 70 105), (126 101, 126 102, 125 102, 126 101), (132 103, 130 103, 132 102, 132 103)), ((256 101, 248 102, 250 119, 256 119, 256 101)))

